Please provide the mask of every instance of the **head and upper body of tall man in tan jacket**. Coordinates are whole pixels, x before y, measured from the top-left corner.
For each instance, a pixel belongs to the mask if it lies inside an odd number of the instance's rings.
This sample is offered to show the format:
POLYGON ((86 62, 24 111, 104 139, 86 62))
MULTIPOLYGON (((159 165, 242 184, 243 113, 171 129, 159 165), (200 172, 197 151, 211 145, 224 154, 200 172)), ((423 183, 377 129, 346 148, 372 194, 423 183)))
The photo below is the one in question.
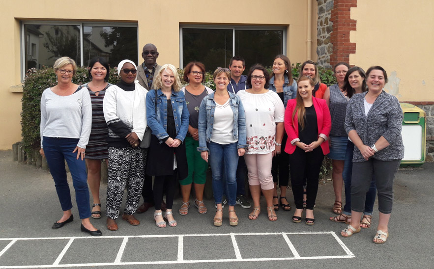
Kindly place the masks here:
POLYGON ((146 44, 142 50, 143 63, 137 67, 137 80, 147 90, 152 89, 152 81, 161 65, 157 64, 158 50, 154 44, 146 44))

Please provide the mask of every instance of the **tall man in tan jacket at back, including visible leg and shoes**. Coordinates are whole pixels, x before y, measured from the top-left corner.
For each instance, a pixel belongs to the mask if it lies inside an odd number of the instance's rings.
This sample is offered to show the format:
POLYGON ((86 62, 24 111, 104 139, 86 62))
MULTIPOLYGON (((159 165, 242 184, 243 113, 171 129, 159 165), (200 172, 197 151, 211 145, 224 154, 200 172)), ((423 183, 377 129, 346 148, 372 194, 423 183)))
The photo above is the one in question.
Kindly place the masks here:
MULTIPOLYGON (((143 63, 137 67, 137 80, 148 91, 152 89, 152 81, 160 71, 161 66, 157 64, 158 50, 154 44, 146 44, 142 50, 143 63)), ((137 209, 137 213, 144 213, 154 206, 154 194, 152 192, 152 177, 145 175, 143 183, 143 204, 137 209)), ((166 211, 166 203, 161 204, 161 209, 166 211)))

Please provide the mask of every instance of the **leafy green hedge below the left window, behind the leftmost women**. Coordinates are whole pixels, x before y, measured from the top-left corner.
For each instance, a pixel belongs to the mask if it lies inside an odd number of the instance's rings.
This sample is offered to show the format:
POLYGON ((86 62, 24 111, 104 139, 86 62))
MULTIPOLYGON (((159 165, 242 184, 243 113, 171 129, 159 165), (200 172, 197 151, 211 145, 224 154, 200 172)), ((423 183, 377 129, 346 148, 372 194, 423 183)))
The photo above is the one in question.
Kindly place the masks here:
MULTIPOLYGON (((84 84, 89 81, 87 68, 78 67, 77 74, 72 79, 75 84, 84 84)), ((117 69, 110 69, 109 82, 116 84, 119 81, 117 69)), ((21 132, 23 147, 28 157, 32 156, 34 149, 40 148, 40 123, 41 123, 41 96, 42 92, 57 84, 57 77, 52 67, 45 69, 30 69, 26 75, 23 86, 21 132)))

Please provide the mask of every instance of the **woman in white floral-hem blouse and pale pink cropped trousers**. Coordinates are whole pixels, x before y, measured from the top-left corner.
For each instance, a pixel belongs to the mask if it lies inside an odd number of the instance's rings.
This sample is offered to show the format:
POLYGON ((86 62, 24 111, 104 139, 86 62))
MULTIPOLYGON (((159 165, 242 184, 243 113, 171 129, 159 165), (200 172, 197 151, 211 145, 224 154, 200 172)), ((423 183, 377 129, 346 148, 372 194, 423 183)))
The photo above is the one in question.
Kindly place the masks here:
POLYGON ((260 214, 260 191, 267 203, 268 219, 276 221, 273 206, 273 156, 281 153, 284 133, 285 107, 277 93, 267 90, 270 75, 261 65, 253 66, 247 77, 246 90, 237 94, 241 98, 246 114, 247 144, 244 159, 247 164, 250 192, 254 208, 249 219, 260 214))

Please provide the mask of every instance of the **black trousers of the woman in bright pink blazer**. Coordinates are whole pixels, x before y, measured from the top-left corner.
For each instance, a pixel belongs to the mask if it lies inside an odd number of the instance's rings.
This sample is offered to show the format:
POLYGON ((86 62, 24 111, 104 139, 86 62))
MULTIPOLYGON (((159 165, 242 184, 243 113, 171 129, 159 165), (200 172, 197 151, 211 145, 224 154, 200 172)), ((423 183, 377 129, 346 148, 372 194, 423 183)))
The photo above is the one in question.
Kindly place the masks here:
POLYGON ((299 147, 289 155, 292 194, 296 209, 303 209, 303 185, 306 179, 306 209, 314 209, 318 193, 319 171, 322 160, 321 147, 311 152, 304 152, 299 147))

